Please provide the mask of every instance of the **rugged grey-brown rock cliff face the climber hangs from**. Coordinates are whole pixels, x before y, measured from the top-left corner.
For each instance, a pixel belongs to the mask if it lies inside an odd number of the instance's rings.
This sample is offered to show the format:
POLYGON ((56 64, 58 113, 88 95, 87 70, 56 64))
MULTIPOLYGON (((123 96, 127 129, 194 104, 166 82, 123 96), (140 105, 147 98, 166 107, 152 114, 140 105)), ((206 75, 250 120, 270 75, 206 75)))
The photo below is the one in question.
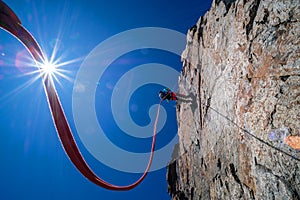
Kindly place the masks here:
POLYGON ((300 199, 299 0, 215 0, 187 35, 173 199, 300 199), (284 151, 284 152, 282 152, 284 151))

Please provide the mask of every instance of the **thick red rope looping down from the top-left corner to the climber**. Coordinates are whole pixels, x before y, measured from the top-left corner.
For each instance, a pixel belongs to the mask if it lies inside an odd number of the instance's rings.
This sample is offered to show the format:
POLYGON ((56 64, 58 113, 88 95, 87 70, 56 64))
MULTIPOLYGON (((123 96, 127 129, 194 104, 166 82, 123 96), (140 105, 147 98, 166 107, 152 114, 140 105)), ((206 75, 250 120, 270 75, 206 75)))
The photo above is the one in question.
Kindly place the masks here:
MULTIPOLYGON (((32 37, 32 35, 21 25, 21 21, 18 19, 18 17, 15 15, 15 13, 3 2, 0 0, 0 27, 6 30, 7 32, 14 35, 18 40, 20 40, 24 46, 29 50, 33 58, 36 62, 43 63, 44 56, 42 53, 41 48, 39 47, 38 43, 35 41, 35 39, 32 37)), ((146 177, 154 155, 155 150, 155 141, 156 141, 156 126, 158 122, 159 117, 159 111, 160 111, 160 105, 162 100, 160 101, 158 108, 157 108, 157 114, 156 119, 154 123, 154 129, 153 129, 153 138, 152 138, 152 146, 151 146, 151 154, 149 158, 149 162, 147 165, 147 168, 145 169, 145 172, 143 175, 133 184, 131 185, 125 185, 125 186, 117 186, 110 184, 101 178, 99 178, 88 166, 86 161, 84 160, 83 156, 81 155, 80 150, 78 149, 78 146, 74 140, 74 137, 72 135, 71 129, 69 127, 68 121, 66 119, 66 116, 64 114, 63 108, 61 106, 60 100, 58 98, 55 85, 51 79, 51 77, 42 74, 43 76, 43 85, 46 92, 48 105, 51 110, 51 115, 58 133, 58 136, 60 138, 60 141, 62 143, 62 146, 67 153, 68 157, 72 161, 72 163, 75 165, 75 167, 90 181, 93 183, 109 189, 109 190, 130 190, 134 187, 136 187, 139 183, 141 183, 144 178, 146 177)))

